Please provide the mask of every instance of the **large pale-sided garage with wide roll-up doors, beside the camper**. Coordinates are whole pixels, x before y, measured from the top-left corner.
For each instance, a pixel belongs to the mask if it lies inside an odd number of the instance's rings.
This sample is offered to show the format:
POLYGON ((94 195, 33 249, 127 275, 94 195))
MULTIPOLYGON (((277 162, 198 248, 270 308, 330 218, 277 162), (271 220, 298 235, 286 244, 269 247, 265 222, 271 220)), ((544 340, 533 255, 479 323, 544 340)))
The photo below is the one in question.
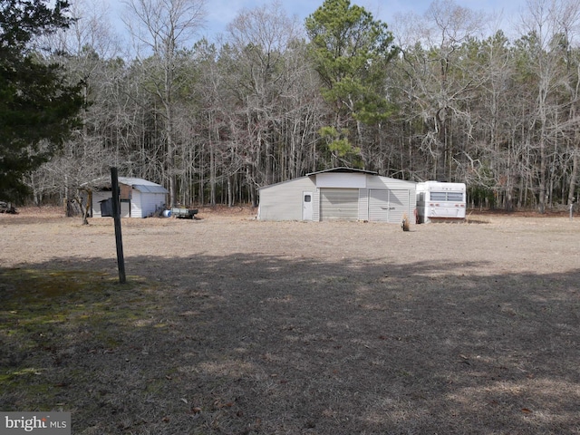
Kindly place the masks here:
POLYGON ((259 189, 260 220, 362 220, 412 217, 415 183, 362 169, 334 168, 259 189))

